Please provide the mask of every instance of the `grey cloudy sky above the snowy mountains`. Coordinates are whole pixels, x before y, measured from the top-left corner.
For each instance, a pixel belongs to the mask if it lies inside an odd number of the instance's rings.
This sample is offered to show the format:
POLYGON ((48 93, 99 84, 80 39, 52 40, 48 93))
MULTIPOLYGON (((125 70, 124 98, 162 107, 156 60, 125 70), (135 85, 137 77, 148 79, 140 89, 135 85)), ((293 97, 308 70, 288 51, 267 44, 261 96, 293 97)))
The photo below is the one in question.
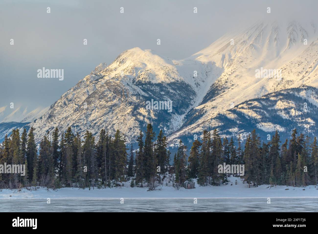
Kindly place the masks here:
POLYGON ((1 0, 0 107, 49 106, 98 64, 133 47, 183 59, 237 27, 274 18, 316 20, 317 9, 315 0, 1 0), (64 69, 64 80, 38 79, 42 67, 64 69))

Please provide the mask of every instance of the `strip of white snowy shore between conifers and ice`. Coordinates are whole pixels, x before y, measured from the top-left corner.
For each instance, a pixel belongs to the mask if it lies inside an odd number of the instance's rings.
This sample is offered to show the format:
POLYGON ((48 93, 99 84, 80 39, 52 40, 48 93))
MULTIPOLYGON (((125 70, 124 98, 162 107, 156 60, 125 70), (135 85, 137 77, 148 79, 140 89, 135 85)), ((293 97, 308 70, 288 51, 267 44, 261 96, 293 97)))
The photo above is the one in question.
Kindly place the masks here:
MULTIPOLYGON (((89 190, 79 188, 62 188, 57 191, 47 189, 27 190, 2 189, 0 199, 166 199, 166 198, 317 198, 318 190, 314 185, 305 188, 290 186, 276 186, 269 188, 268 185, 248 188, 238 177, 230 177, 230 183, 221 186, 198 186, 195 189, 180 188, 176 190, 172 186, 166 186, 165 182, 154 191, 148 188, 131 188, 130 182, 125 182, 122 187, 113 187, 89 190), (235 180, 238 181, 235 184, 235 180), (232 184, 232 185, 231 185, 232 184), (288 190, 286 190, 288 188, 288 190), (305 189, 305 190, 303 190, 305 189)), ((172 183, 171 183, 172 185, 172 183)))

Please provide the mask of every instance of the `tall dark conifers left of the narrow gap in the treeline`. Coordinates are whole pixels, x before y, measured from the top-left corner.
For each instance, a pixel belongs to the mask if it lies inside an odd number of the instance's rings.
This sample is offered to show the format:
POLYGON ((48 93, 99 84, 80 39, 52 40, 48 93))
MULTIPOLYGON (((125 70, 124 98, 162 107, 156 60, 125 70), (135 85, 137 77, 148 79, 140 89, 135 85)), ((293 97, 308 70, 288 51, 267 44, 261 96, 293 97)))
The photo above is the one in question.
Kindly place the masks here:
POLYGON ((25 176, 0 174, 1 188, 111 187, 121 185, 131 176, 135 176, 134 186, 143 187, 147 183, 154 188, 157 178, 169 168, 167 138, 161 130, 154 142, 151 124, 144 134, 140 131, 139 148, 134 153, 131 145, 129 155, 126 139, 119 130, 112 136, 102 129, 95 143, 89 131, 82 141, 71 127, 66 132, 55 128, 52 135, 47 133, 43 137, 39 147, 34 130, 31 127, 27 134, 24 129, 20 137, 19 129, 13 129, 10 137, 5 136, 0 147, 0 164, 25 164, 26 172, 25 176))

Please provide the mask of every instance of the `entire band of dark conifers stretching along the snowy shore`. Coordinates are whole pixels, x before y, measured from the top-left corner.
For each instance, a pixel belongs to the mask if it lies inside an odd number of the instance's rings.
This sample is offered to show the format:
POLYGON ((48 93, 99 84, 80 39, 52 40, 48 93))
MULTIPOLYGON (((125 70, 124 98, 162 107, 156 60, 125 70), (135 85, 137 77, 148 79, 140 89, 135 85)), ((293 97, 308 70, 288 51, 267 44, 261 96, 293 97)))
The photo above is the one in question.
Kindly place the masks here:
POLYGON ((244 141, 241 136, 234 141, 222 139, 217 130, 204 130, 201 141, 193 141, 190 150, 180 140, 174 156, 167 149, 168 140, 162 130, 156 135, 151 124, 145 132, 139 132, 135 149, 126 144, 119 130, 111 135, 102 129, 99 139, 86 131, 81 139, 71 127, 65 132, 55 128, 39 146, 34 130, 31 127, 27 133, 24 128, 20 134, 19 129, 13 129, 1 144, 0 164, 25 164, 26 168, 25 176, 1 173, 1 189, 104 188, 121 186, 133 178, 131 187, 147 186, 154 190, 166 177, 176 189, 193 179, 201 186, 217 186, 228 182, 230 174, 218 172, 218 165, 224 162, 244 164, 242 177, 249 187, 317 184, 317 139, 299 134, 296 129, 283 142, 277 131, 270 141, 261 141, 255 130, 244 141))

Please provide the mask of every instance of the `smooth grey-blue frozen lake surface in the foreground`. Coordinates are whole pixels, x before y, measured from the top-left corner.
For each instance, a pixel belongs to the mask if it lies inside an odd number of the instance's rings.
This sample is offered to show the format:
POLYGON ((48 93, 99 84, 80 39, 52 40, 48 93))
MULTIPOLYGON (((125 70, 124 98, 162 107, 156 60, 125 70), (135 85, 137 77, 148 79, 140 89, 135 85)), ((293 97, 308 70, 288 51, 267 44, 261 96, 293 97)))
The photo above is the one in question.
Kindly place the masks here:
POLYGON ((317 198, 0 199, 1 212, 317 212, 317 198))

